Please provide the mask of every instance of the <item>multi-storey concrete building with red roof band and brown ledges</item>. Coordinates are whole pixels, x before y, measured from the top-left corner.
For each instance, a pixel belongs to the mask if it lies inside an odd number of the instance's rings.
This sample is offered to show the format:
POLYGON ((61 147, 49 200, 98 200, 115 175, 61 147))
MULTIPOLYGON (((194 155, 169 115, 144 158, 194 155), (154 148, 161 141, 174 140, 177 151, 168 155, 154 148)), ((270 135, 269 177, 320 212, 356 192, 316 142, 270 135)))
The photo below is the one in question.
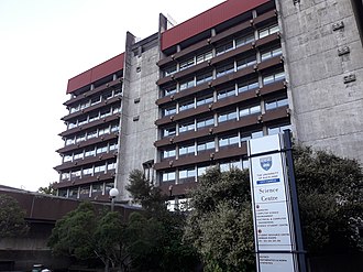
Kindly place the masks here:
POLYGON ((72 79, 58 194, 108 197, 133 168, 173 197, 207 167, 246 167, 249 139, 363 159, 360 0, 228 0, 72 79))

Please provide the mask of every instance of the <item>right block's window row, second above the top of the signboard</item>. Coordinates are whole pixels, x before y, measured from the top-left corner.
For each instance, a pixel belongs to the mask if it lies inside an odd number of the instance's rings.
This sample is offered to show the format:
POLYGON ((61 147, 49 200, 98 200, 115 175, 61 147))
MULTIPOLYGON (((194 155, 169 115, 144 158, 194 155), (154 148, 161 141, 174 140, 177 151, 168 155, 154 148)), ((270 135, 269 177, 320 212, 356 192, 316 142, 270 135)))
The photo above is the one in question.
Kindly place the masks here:
MULTIPOLYGON (((264 102, 265 110, 273 110, 278 107, 288 106, 288 99, 286 97, 274 98, 264 102)), ((206 127, 215 127, 219 123, 232 120, 241 120, 243 117, 261 113, 261 105, 253 105, 249 107, 241 107, 222 111, 209 117, 198 118, 190 121, 179 122, 176 126, 164 128, 162 130, 162 138, 177 135, 188 131, 196 131, 206 127)))

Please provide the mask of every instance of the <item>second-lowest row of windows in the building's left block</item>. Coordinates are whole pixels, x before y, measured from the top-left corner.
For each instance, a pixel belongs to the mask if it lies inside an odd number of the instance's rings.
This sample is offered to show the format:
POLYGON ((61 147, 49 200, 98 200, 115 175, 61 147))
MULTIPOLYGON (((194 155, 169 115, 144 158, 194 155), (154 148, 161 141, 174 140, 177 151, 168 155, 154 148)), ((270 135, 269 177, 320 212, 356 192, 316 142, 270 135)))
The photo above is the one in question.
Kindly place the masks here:
POLYGON ((88 165, 84 166, 77 170, 72 170, 69 172, 63 172, 61 174, 61 179, 62 181, 67 181, 67 179, 75 179, 75 178, 82 178, 87 176, 92 176, 96 174, 105 174, 110 171, 116 170, 116 160, 99 163, 99 164, 94 164, 94 165, 88 165))

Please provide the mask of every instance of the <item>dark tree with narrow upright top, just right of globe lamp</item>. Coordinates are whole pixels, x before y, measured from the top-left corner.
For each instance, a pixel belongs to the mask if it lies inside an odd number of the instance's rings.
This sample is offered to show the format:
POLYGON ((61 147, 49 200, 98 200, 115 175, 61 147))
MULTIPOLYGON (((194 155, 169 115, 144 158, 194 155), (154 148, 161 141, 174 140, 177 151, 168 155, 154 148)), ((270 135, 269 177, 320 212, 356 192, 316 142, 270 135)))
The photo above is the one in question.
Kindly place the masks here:
POLYGON ((193 271, 198 255, 183 241, 185 216, 166 209, 167 196, 141 171, 133 171, 129 182, 128 191, 144 208, 130 216, 125 231, 134 271, 193 271))

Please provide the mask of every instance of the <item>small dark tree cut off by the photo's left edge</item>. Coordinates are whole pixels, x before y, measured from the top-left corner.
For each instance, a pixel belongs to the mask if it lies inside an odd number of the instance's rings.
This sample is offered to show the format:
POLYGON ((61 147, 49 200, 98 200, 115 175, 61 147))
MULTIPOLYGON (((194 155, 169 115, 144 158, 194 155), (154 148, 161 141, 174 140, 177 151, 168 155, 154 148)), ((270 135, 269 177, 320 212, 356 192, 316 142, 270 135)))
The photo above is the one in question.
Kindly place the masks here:
POLYGON ((15 198, 0 195, 0 239, 26 235, 29 227, 23 210, 15 198))

